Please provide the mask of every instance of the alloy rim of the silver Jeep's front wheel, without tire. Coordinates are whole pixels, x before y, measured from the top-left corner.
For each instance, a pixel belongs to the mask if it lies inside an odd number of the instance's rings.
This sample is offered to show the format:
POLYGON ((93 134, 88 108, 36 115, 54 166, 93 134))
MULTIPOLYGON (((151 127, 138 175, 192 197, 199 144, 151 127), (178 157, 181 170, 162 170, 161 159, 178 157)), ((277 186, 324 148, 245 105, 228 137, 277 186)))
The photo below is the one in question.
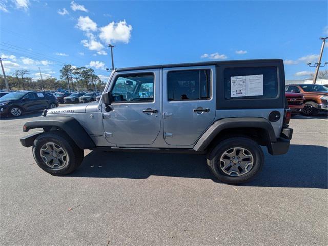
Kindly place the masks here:
POLYGON ((46 142, 40 149, 40 156, 48 167, 56 170, 64 168, 68 161, 65 150, 54 142, 46 142))

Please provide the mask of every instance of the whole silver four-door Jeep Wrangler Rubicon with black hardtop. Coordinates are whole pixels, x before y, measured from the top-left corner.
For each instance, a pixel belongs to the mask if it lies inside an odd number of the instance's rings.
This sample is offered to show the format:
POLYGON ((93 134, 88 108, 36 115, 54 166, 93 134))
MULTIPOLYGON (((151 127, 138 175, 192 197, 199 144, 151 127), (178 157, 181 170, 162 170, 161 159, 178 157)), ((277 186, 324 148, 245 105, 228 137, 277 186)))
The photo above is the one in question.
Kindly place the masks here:
POLYGON ((99 102, 45 110, 20 138, 52 175, 73 172, 84 149, 204 154, 216 178, 242 183, 288 151, 283 61, 239 60, 115 69, 99 102))

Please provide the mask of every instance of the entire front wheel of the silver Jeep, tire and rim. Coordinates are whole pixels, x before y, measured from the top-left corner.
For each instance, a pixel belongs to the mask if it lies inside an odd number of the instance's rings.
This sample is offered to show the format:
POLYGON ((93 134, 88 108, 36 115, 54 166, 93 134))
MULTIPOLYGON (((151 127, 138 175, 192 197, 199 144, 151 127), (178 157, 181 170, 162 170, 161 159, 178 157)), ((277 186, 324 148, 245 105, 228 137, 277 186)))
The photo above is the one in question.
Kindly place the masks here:
POLYGON ((50 131, 39 135, 33 143, 37 165, 52 175, 65 175, 78 168, 84 151, 65 133, 50 131))

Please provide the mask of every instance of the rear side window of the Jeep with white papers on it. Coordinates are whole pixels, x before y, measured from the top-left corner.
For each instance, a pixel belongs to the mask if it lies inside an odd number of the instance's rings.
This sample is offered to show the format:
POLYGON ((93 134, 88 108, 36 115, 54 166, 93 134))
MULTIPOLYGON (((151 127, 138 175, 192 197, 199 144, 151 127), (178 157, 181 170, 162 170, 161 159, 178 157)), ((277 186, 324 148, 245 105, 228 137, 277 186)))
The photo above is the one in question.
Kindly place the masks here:
MULTIPOLYGON (((250 77, 249 77, 250 78, 250 77)), ((242 81, 242 80, 240 80, 242 81)), ((242 81, 244 83, 244 81, 242 81)), ((261 83, 260 83, 261 84, 261 83)), ((235 87, 236 91, 238 90, 238 86, 235 87)), ((242 98, 275 98, 278 95, 278 78, 277 78, 277 68, 276 67, 239 67, 239 68, 226 68, 224 69, 224 94, 226 99, 242 99, 242 98), (250 92, 248 87, 250 87, 250 83, 247 81, 245 86, 240 86, 240 94, 242 92, 248 91, 251 96, 231 96, 231 85, 232 81, 235 78, 245 78, 247 80, 247 76, 258 75, 259 79, 255 86, 258 86, 258 81, 263 81, 263 91, 257 93, 256 90, 258 88, 253 87, 253 91, 250 92), (232 78, 233 77, 233 78, 232 78), (235 77, 235 78, 234 78, 235 77), (255 92, 254 92, 255 91, 255 92), (255 94, 255 95, 252 95, 255 94)), ((238 94, 238 93, 236 93, 238 94)))

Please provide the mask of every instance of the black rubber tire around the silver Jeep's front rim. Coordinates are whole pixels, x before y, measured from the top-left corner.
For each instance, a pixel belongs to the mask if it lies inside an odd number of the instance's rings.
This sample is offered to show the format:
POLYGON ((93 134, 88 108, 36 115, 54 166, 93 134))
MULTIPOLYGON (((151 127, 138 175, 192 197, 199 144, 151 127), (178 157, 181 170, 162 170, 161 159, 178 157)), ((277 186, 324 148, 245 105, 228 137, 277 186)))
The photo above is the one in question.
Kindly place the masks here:
POLYGON ((84 158, 84 151, 65 133, 60 131, 50 131, 39 135, 33 143, 33 156, 37 165, 47 173, 52 175, 66 175, 77 169, 84 158), (66 157, 66 162, 62 168, 52 168, 41 157, 41 148, 47 143, 54 143, 61 147, 66 157))

